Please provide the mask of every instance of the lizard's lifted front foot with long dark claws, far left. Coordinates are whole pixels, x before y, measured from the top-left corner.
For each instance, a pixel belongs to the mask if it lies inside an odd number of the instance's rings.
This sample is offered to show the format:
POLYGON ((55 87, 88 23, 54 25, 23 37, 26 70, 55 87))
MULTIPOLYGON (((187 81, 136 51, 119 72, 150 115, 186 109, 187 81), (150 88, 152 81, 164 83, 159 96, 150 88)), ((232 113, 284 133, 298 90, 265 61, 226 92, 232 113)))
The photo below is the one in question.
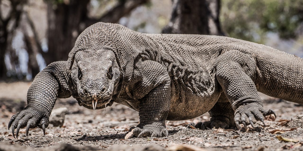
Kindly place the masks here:
POLYGON ((30 128, 42 128, 45 135, 45 128, 48 127, 48 116, 32 108, 25 108, 23 111, 13 115, 8 123, 8 130, 12 126, 12 133, 15 138, 15 128, 17 128, 16 136, 18 138, 20 128, 26 127, 26 136, 30 128))

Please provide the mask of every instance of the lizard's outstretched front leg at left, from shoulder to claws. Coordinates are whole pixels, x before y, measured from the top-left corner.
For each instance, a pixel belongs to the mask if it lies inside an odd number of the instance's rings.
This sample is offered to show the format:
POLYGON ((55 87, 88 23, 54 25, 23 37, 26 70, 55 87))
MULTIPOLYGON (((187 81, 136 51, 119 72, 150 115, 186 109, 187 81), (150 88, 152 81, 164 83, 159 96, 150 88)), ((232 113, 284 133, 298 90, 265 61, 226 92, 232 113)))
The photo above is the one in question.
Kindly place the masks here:
POLYGON ((17 128, 17 138, 20 128, 26 127, 26 135, 30 128, 48 127, 49 115, 54 108, 57 97, 68 98, 71 93, 67 85, 66 61, 54 62, 45 67, 37 74, 32 85, 27 92, 27 106, 21 112, 12 116, 8 123, 8 130, 12 126, 12 133, 15 137, 17 128))

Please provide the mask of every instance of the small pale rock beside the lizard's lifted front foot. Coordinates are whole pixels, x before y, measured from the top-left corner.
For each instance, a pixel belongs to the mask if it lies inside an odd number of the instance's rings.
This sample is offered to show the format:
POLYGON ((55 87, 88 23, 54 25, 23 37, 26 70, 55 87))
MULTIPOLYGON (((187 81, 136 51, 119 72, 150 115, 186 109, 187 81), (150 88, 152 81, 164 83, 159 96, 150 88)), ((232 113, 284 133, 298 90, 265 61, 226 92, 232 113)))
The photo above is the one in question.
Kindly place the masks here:
POLYGON ((66 107, 54 109, 52 114, 49 116, 49 124, 53 124, 56 127, 62 127, 67 112, 68 109, 66 107))

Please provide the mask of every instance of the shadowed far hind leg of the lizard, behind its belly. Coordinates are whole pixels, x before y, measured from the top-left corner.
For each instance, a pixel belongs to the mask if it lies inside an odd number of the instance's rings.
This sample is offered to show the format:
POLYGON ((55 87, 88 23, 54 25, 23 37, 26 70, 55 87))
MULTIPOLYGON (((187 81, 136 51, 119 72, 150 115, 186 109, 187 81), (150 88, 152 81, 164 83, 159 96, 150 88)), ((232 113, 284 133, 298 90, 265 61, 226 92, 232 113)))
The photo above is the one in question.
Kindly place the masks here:
POLYGON ((211 119, 205 122, 198 122, 195 125, 195 128, 206 130, 207 128, 211 129, 213 127, 225 129, 235 127, 235 112, 224 93, 221 94, 218 102, 214 105, 214 107, 211 108, 210 111, 208 111, 208 113, 211 116, 211 119))

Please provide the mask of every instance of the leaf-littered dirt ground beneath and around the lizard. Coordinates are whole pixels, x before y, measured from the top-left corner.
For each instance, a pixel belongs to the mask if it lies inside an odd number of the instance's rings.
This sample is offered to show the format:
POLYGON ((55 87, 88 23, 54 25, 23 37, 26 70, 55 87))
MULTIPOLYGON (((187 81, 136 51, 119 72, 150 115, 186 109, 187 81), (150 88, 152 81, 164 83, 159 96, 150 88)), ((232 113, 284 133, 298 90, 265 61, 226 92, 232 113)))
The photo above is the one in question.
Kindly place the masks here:
POLYGON ((138 112, 120 104, 106 111, 88 110, 73 98, 58 99, 55 108, 66 107, 62 127, 51 124, 46 135, 39 128, 28 137, 21 129, 18 139, 7 129, 10 117, 26 106, 30 82, 0 82, 0 151, 1 150, 303 150, 303 106, 261 95, 265 109, 272 108, 277 118, 236 129, 196 130, 187 124, 209 120, 208 113, 185 121, 167 121, 168 137, 124 140, 128 129, 139 122, 138 112))

